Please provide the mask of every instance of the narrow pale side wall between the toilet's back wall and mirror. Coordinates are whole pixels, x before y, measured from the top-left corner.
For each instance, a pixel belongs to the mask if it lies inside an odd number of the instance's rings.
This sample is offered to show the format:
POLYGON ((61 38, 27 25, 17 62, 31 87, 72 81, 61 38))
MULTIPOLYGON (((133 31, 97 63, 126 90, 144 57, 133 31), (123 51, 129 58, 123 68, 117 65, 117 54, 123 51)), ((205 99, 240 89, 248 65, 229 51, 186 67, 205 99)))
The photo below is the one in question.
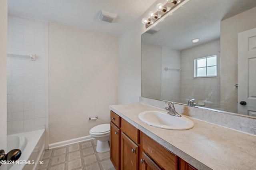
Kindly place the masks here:
POLYGON ((145 26, 141 19, 154 11, 157 3, 165 4, 165 0, 156 0, 142 16, 138 18, 127 30, 119 36, 118 55, 118 102, 139 102, 141 95, 141 34, 145 26))

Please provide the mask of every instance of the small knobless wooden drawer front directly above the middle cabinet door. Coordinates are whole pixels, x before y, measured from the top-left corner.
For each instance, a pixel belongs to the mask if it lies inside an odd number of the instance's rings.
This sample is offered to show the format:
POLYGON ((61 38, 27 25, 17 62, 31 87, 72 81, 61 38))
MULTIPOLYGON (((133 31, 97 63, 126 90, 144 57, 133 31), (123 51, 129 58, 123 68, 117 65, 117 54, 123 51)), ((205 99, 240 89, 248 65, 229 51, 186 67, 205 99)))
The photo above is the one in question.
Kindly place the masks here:
POLYGON ((129 136, 130 139, 132 139, 134 142, 139 144, 139 130, 122 118, 121 118, 121 130, 127 136, 129 136))

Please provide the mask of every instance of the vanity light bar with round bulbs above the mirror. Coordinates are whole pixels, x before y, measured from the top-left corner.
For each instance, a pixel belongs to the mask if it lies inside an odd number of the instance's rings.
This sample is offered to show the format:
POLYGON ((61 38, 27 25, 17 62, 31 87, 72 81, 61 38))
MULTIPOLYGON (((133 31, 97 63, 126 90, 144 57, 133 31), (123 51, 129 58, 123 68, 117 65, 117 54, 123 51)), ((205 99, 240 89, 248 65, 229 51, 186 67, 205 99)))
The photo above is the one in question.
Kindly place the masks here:
POLYGON ((151 26, 153 23, 155 23, 158 19, 160 19, 162 16, 167 14, 172 8, 175 8, 174 6, 177 4, 180 4, 180 2, 183 2, 184 0, 166 0, 166 4, 158 3, 156 4, 156 12, 150 11, 148 14, 148 17, 142 18, 141 23, 146 25, 146 28, 151 26), (168 4, 174 4, 174 6, 170 7, 168 4))

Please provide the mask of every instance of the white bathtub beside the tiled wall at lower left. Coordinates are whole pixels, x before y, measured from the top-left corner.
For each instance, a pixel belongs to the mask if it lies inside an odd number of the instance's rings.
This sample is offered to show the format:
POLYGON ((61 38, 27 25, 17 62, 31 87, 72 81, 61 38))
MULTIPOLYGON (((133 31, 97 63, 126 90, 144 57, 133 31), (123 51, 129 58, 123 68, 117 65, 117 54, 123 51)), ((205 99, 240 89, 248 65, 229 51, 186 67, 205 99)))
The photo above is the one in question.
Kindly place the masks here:
POLYGON ((7 166, 8 170, 34 170, 44 152, 44 129, 7 135, 7 152, 20 149, 18 162, 7 166))

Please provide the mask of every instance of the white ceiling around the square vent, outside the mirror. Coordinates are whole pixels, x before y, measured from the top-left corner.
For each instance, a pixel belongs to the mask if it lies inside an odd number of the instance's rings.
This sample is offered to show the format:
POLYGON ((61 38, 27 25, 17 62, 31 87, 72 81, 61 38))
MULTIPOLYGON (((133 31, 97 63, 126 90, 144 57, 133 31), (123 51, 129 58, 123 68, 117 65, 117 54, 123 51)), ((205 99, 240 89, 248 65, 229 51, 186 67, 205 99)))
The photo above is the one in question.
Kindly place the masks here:
POLYGON ((121 35, 156 0, 8 0, 8 14, 121 35), (118 14, 113 23, 98 20, 100 10, 118 14))

